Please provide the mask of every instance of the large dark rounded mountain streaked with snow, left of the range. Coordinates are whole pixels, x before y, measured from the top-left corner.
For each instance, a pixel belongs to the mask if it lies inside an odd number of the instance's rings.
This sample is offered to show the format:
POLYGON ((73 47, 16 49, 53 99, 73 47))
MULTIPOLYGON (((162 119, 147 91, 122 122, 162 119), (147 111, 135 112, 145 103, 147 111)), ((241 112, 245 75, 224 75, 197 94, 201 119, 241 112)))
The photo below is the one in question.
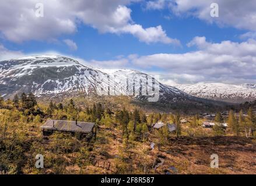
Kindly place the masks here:
POLYGON ((0 95, 4 98, 12 98, 22 92, 33 92, 37 96, 73 95, 82 92, 86 95, 133 95, 144 99, 145 95, 155 96, 156 93, 150 90, 154 90, 153 87, 156 89, 158 85, 160 100, 193 100, 185 92, 163 85, 136 70, 95 69, 71 58, 52 55, 0 62, 0 95), (144 90, 143 87, 147 89, 144 90))

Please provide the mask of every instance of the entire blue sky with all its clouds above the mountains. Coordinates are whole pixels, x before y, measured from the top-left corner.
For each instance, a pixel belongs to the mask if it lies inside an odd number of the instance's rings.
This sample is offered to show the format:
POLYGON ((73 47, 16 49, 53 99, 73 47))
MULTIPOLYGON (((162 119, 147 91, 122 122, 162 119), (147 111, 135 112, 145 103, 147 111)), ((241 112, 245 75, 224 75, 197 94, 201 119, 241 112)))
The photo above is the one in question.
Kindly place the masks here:
POLYGON ((255 84, 256 0, 1 1, 0 60, 40 54, 169 85, 255 84))

